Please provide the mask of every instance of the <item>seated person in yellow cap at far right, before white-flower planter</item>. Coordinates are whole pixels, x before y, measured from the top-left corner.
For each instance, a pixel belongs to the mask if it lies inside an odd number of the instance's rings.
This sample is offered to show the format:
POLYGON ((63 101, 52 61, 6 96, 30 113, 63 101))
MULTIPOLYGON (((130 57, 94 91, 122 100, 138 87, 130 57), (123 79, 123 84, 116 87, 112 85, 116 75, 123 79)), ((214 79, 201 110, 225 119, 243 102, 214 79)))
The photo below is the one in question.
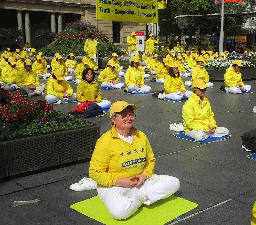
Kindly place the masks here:
POLYGON ((240 66, 243 66, 241 61, 235 60, 232 66, 226 69, 224 74, 225 90, 232 94, 242 93, 242 91, 248 92, 251 89, 251 85, 244 84, 242 81, 240 66))

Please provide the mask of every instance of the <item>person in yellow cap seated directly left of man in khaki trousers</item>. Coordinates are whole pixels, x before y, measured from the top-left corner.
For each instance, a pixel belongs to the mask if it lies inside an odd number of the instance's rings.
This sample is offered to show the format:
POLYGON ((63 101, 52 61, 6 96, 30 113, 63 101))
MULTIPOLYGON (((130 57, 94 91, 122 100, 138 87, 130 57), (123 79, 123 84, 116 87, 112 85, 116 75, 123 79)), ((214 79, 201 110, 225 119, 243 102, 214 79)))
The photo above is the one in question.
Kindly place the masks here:
POLYGON ((8 66, 5 66, 2 71, 2 80, 4 81, 4 90, 16 90, 19 87, 16 85, 16 76, 19 69, 16 68, 15 58, 8 59, 8 66))

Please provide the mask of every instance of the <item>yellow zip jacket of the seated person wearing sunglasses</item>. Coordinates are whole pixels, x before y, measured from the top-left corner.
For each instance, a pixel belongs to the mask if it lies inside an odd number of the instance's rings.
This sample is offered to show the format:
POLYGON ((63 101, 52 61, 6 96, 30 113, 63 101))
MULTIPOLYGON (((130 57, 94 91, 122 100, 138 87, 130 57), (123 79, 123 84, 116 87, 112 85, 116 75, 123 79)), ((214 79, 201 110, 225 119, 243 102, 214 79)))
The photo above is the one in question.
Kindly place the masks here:
POLYGON ((191 96, 185 102, 182 108, 183 126, 185 134, 189 131, 199 131, 204 129, 208 132, 210 127, 216 127, 214 113, 211 111, 211 105, 208 99, 202 98, 202 105, 199 104, 200 97, 192 92, 191 96))

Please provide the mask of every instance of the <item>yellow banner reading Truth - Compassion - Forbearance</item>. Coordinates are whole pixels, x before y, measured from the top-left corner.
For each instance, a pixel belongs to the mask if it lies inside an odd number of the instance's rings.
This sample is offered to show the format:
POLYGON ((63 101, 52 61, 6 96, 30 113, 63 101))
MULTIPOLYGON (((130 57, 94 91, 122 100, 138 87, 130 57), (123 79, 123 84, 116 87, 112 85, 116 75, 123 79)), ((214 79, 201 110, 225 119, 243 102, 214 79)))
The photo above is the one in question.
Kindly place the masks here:
POLYGON ((97 0, 96 14, 99 20, 157 23, 157 0, 97 0))

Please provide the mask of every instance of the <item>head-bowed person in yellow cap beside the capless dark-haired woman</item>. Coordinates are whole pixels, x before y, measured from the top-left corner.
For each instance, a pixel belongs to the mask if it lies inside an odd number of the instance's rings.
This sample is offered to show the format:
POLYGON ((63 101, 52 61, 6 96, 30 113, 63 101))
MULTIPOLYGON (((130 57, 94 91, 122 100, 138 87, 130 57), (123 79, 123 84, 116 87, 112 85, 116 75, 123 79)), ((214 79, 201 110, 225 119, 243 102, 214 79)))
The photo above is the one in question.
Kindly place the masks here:
POLYGON ((76 101, 77 95, 73 92, 73 88, 64 78, 63 71, 57 69, 47 79, 45 86, 45 101, 47 103, 76 101))

